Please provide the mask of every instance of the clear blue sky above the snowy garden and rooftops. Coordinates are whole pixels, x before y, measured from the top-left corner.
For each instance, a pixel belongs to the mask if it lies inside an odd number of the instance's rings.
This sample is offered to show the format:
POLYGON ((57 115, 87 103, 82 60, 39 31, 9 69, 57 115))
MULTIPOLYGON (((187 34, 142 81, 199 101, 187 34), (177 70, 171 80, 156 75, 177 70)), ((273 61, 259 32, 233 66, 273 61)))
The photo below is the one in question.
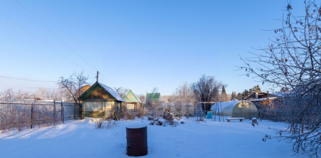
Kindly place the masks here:
MULTIPOLYGON (((161 95, 201 74, 228 84, 228 93, 256 84, 268 90, 233 70, 243 65, 238 54, 248 57, 251 47, 267 46, 275 34, 261 29, 281 27, 274 19, 282 19, 287 5, 286 0, 17 1, 107 78, 99 77, 100 82, 137 94, 158 87, 161 95)), ((296 7, 302 8, 303 1, 292 2, 296 7)), ((16 1, 0 0, 0 11, 49 45, 0 13, 0 76, 57 80, 82 68, 89 78, 95 76, 95 69, 16 1)), ((0 78, 0 91, 38 87, 56 85, 0 78)))

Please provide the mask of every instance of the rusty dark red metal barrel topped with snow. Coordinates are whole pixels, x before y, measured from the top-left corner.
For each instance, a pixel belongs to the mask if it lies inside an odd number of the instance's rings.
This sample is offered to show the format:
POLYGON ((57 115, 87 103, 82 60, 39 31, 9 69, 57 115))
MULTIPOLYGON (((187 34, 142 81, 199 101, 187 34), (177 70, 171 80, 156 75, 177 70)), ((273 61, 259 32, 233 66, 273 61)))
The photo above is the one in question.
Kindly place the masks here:
POLYGON ((127 155, 147 155, 147 126, 126 127, 127 155))

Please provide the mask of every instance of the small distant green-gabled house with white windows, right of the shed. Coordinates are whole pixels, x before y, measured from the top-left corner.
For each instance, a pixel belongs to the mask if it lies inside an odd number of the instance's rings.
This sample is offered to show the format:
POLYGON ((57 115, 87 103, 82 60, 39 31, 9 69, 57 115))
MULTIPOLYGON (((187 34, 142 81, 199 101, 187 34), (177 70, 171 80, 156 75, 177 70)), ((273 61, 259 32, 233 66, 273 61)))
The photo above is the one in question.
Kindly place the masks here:
POLYGON ((123 104, 126 105, 127 110, 138 110, 144 105, 144 103, 135 95, 132 90, 128 91, 124 97, 124 100, 125 102, 123 104))

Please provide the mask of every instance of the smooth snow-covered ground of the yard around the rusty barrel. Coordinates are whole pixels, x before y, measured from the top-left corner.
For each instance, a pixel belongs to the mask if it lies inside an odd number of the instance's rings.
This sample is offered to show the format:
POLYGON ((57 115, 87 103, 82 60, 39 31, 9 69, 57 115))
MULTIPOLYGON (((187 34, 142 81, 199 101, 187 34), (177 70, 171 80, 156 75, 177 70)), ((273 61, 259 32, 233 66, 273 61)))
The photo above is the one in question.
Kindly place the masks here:
MULTIPOLYGON (((277 140, 262 141, 268 129, 285 124, 261 121, 253 127, 244 122, 195 122, 184 119, 177 127, 148 125, 148 154, 144 157, 304 157, 293 155, 291 145, 277 140)), ((146 118, 119 121, 119 127, 95 129, 90 119, 66 121, 56 127, 0 133, 0 157, 128 157, 126 126, 148 124, 146 118)))

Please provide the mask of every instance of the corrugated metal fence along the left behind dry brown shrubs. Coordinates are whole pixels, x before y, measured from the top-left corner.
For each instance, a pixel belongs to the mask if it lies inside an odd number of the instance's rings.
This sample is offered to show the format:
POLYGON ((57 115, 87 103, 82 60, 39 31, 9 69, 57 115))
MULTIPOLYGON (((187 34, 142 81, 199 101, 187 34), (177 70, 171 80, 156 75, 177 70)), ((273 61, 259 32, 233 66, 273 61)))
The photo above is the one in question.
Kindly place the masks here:
POLYGON ((80 113, 75 103, 0 98, 0 130, 48 127, 79 119, 80 113))

